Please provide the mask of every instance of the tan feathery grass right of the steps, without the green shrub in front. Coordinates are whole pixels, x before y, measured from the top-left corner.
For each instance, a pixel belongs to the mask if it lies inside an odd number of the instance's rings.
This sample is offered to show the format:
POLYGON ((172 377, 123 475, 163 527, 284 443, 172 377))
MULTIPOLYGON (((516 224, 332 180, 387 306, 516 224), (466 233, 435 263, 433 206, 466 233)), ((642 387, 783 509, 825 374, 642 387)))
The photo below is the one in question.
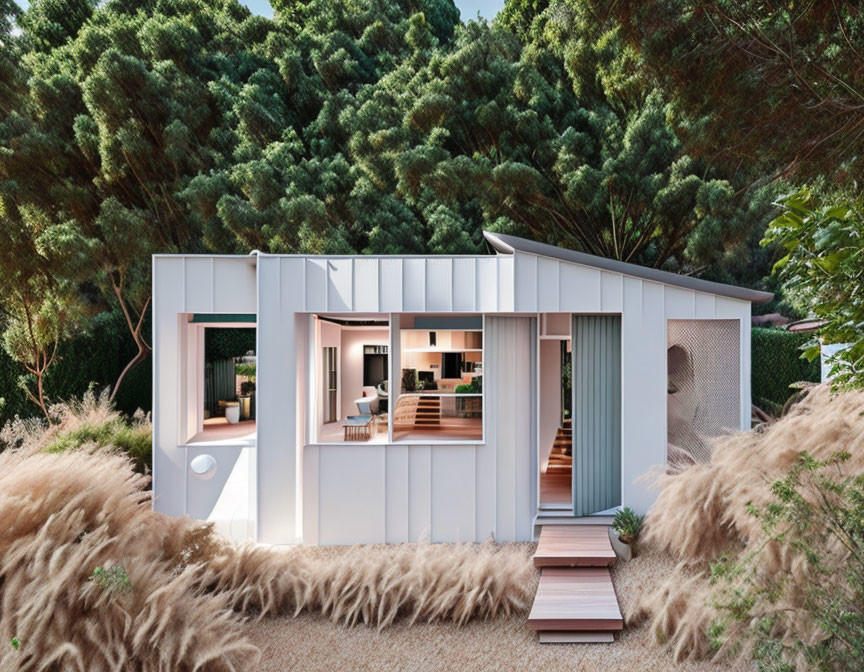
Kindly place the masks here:
MULTIPOLYGON (((819 386, 775 424, 718 440, 709 464, 655 475, 661 491, 645 518, 640 545, 670 554, 679 565, 665 585, 627 610, 628 623, 646 622, 677 660, 709 653, 750 655, 747 623, 728 623, 719 641, 710 637, 717 605, 728 593, 718 585, 722 582, 711 581, 708 564, 728 558, 750 568, 733 577, 732 590, 744 581, 780 587, 776 601, 752 608, 763 616, 782 615, 772 638, 812 643, 824 636, 803 608, 804 592, 816 579, 806 558, 793 544, 771 541, 748 506, 761 509, 776 501, 771 484, 789 473, 803 451, 817 460, 846 452, 850 457, 842 471, 864 473, 864 392, 832 395, 819 386)), ((832 542, 823 551, 823 560, 842 570, 848 550, 832 542)))

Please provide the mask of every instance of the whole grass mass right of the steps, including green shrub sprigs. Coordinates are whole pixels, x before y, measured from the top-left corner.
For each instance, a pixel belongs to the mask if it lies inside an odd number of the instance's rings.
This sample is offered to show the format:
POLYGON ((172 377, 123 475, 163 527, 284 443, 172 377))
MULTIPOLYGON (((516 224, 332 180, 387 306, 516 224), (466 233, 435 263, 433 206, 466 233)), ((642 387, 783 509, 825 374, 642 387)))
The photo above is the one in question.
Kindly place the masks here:
POLYGON ((815 388, 778 422, 657 477, 642 544, 679 562, 625 614, 678 660, 760 670, 864 659, 864 392, 815 388))

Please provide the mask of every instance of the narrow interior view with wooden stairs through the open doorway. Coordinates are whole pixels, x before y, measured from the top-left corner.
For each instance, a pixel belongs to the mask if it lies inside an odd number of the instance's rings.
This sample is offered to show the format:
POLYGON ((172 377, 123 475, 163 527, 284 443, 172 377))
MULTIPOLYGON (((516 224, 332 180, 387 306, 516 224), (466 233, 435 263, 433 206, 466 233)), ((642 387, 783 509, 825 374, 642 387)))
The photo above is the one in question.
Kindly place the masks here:
POLYGON ((538 366, 540 508, 572 510, 570 316, 543 315, 538 366))

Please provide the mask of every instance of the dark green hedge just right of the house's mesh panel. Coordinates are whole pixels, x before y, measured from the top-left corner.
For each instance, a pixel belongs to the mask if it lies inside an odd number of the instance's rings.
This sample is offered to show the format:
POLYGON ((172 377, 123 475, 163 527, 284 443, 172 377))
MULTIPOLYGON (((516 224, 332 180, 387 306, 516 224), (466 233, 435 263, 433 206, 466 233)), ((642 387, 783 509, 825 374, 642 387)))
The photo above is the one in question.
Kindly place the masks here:
POLYGON ((751 333, 754 404, 776 411, 794 393, 789 385, 819 381, 819 361, 801 359, 801 346, 813 340, 813 332, 754 328, 751 333))

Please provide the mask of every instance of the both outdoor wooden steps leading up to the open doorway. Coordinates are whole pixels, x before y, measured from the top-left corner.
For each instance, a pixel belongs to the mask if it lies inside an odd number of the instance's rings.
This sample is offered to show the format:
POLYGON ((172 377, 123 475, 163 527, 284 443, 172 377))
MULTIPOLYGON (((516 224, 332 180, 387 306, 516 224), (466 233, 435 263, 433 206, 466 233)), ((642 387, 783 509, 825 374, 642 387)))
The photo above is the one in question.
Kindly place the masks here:
POLYGON ((540 583, 528 627, 541 644, 611 642, 624 627, 606 525, 544 525, 534 553, 540 583))

